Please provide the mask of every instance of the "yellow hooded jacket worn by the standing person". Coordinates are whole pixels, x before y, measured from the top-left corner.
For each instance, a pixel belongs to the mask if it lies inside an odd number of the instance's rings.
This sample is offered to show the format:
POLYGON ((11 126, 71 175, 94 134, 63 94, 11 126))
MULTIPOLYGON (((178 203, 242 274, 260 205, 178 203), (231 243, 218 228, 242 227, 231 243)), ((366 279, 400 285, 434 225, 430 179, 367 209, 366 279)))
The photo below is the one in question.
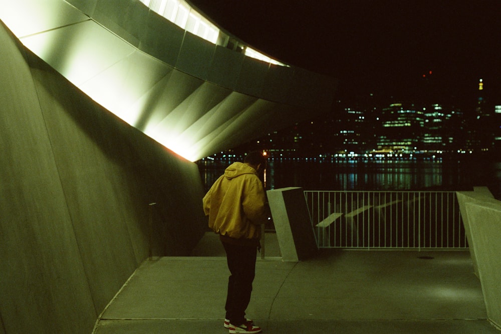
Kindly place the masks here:
POLYGON ((269 210, 256 169, 242 162, 229 165, 203 197, 203 211, 214 232, 258 241, 269 210))

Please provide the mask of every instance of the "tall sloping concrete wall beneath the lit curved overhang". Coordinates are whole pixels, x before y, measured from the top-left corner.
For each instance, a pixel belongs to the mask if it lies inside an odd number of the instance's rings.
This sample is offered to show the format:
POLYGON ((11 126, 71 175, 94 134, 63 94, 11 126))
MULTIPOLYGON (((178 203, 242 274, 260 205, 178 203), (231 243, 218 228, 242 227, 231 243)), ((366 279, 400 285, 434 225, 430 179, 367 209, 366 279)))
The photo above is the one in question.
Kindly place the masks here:
POLYGON ((202 236, 198 169, 1 22, 0 45, 0 332, 89 333, 150 252, 187 255, 202 236))

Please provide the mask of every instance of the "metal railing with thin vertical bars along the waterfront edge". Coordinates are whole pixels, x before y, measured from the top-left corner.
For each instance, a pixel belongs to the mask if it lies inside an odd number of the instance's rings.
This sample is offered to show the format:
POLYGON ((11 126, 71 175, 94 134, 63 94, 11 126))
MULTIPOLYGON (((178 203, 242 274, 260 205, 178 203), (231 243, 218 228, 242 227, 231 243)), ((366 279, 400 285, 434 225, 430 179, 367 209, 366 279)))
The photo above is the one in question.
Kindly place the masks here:
POLYGON ((305 191, 321 248, 467 248, 454 191, 305 191))

